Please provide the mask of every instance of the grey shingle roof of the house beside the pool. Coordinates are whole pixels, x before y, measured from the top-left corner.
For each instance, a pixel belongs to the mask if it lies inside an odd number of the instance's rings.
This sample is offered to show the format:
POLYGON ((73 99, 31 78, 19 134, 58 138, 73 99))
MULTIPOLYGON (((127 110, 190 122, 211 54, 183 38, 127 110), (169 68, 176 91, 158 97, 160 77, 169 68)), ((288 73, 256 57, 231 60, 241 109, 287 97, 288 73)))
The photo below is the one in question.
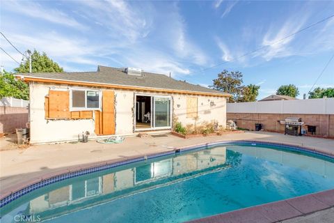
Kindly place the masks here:
POLYGON ((128 75, 124 68, 111 68, 98 66, 97 72, 40 72, 17 74, 17 77, 24 77, 26 81, 55 82, 63 81, 69 84, 87 83, 101 84, 101 86, 126 86, 132 89, 166 89, 186 92, 200 92, 212 95, 224 95, 230 97, 230 94, 214 89, 208 89, 200 85, 189 84, 178 81, 166 75, 152 72, 143 72, 143 77, 128 75))

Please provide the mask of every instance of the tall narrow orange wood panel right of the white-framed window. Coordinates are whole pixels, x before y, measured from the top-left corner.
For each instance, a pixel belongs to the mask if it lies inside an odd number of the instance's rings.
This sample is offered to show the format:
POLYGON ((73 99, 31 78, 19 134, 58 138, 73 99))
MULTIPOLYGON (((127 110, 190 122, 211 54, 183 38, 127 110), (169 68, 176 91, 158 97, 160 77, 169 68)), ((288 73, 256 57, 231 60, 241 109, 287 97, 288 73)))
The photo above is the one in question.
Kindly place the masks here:
POLYGON ((115 94, 102 92, 102 134, 115 134, 115 94))

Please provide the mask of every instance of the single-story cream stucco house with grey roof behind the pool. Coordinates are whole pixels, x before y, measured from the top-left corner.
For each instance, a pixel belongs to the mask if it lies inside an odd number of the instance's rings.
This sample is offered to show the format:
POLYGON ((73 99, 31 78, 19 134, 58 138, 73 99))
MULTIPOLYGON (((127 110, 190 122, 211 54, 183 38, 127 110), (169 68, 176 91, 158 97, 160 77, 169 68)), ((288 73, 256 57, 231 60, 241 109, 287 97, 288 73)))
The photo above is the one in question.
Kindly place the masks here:
POLYGON ((170 132, 212 122, 225 128, 230 94, 136 68, 98 66, 97 72, 25 73, 29 82, 31 144, 170 132))

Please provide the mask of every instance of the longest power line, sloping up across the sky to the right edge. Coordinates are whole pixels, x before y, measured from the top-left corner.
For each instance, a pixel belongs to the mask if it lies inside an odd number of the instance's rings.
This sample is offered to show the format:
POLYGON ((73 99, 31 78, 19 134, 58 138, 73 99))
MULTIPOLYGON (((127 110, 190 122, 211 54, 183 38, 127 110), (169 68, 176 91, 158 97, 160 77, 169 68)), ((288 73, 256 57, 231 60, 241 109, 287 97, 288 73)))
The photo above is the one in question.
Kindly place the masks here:
POLYGON ((212 69, 212 68, 216 68, 216 67, 218 67, 218 66, 222 66, 222 65, 224 65, 224 64, 226 64, 226 63, 230 63, 230 62, 232 62, 232 61, 236 61, 237 59, 240 59, 240 58, 242 58, 242 57, 244 57, 244 56, 248 56, 248 55, 250 55, 250 54, 253 54, 253 53, 257 52, 257 51, 260 51, 261 49, 264 49, 264 48, 269 47, 269 46, 271 46, 271 45, 275 45, 276 43, 280 43, 280 42, 282 42, 283 40, 285 40, 285 39, 287 39, 287 38, 290 38, 290 37, 292 37, 292 36, 294 36, 294 35, 296 35, 296 34, 298 34, 298 33, 301 33, 302 31, 305 31, 306 29, 310 29, 312 26, 316 26, 317 24, 320 24, 321 22, 325 22, 326 20, 330 20, 330 19, 333 18, 333 17, 334 17, 334 14, 333 14, 333 15, 330 15, 330 16, 328 16, 328 17, 326 17, 326 18, 324 18, 323 20, 320 20, 320 21, 318 21, 318 22, 315 22, 315 23, 313 23, 313 24, 310 24, 309 26, 306 26, 306 27, 303 28, 303 29, 299 29, 299 31, 296 31, 296 32, 294 32, 294 33, 291 33, 291 34, 289 34, 288 36, 285 36, 284 38, 281 38, 280 40, 277 40, 277 41, 275 41, 275 42, 273 42, 273 43, 271 43, 271 44, 269 44, 269 45, 265 45, 265 46, 263 46, 263 47, 254 49, 253 51, 247 52, 246 54, 242 54, 241 56, 237 56, 236 58, 234 58, 234 59, 232 59, 232 60, 230 60, 230 61, 225 61, 225 62, 223 62, 223 63, 218 63, 218 64, 216 64, 216 65, 214 65, 214 66, 211 66, 211 67, 208 67, 208 68, 204 68, 204 69, 202 69, 202 70, 197 70, 197 71, 194 71, 194 72, 190 72, 189 75, 191 75, 191 74, 193 74, 193 73, 196 73, 196 72, 200 72, 200 71, 205 71, 205 70, 209 70, 209 69, 212 69))

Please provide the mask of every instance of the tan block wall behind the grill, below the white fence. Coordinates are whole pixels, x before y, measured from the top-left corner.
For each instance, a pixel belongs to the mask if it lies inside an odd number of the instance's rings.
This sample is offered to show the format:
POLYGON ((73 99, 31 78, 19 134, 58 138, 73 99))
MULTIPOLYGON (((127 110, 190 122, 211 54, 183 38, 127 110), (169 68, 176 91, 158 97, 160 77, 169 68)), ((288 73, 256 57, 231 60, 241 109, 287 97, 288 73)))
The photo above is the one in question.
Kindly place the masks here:
MULTIPOLYGON (((284 121, 287 117, 298 117, 305 125, 317 125, 317 135, 334 137, 334 114, 260 114, 260 113, 227 113, 228 120, 237 121, 239 128, 255 130, 255 123, 261 123, 268 132, 284 132, 284 121)), ((307 128, 303 125, 303 128, 307 128)))

